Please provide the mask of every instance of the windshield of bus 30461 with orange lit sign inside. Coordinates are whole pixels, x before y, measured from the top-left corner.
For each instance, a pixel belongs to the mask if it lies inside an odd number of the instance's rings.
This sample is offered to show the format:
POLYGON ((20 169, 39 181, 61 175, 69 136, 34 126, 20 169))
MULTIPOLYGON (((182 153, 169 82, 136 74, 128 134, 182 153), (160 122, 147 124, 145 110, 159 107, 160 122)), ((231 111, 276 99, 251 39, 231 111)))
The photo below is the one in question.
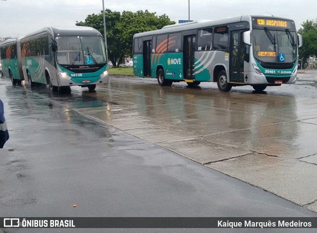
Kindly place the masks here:
POLYGON ((297 58, 296 33, 289 29, 254 29, 253 52, 258 61, 293 62, 297 58))

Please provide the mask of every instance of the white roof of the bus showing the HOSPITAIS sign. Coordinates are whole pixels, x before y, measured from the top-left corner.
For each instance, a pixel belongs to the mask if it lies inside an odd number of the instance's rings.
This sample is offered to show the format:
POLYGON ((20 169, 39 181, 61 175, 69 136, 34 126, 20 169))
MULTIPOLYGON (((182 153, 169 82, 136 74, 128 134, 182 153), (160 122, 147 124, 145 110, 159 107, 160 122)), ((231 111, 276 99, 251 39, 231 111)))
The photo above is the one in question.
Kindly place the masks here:
POLYGON ((197 20, 187 23, 179 23, 179 24, 173 24, 173 25, 167 25, 165 27, 162 27, 162 29, 149 31, 149 32, 141 32, 134 35, 135 37, 143 37, 143 36, 151 36, 156 34, 164 34, 164 33, 171 33, 171 32, 178 32, 178 31, 184 31, 184 30, 191 30, 196 28, 205 28, 210 26, 216 26, 216 25, 223 25, 223 24, 229 24, 234 22, 251 22, 253 17, 264 17, 264 18, 272 18, 272 19, 286 19, 282 17, 274 17, 270 15, 242 15, 242 16, 236 16, 236 17, 228 17, 224 19, 217 19, 217 20, 197 20))

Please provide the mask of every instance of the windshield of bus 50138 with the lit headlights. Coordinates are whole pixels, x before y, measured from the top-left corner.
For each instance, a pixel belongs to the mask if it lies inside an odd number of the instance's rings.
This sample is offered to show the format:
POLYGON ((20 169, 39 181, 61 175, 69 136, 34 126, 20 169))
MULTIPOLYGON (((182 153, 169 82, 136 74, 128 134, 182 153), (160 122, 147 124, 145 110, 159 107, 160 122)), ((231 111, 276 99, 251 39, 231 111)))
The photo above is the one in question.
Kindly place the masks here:
POLYGON ((93 65, 106 63, 105 44, 98 36, 58 36, 58 64, 93 65))

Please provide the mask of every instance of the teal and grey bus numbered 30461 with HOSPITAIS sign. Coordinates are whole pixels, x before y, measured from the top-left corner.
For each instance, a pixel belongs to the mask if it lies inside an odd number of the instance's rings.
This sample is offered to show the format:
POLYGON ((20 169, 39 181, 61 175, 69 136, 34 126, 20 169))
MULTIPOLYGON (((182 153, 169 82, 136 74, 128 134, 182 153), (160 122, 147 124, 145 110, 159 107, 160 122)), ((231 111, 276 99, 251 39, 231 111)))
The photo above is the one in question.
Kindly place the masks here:
POLYGON ((168 25, 133 37, 133 71, 160 86, 217 82, 220 91, 295 83, 302 36, 293 20, 239 16, 168 25))

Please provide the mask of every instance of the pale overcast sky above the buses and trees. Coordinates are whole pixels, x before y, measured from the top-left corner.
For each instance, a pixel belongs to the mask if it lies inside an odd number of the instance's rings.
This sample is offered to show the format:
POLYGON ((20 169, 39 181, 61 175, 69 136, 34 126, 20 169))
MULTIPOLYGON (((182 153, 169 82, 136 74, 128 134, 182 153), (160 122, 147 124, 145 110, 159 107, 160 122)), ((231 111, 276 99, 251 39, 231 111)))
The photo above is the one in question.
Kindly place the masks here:
MULTIPOLYGON (((105 0, 112 11, 146 10, 171 20, 188 19, 188 0, 105 0)), ((23 36, 45 26, 75 25, 99 13, 103 0, 0 0, 0 37, 23 36)), ((190 19, 273 14, 295 21, 297 29, 317 18, 316 0, 190 0, 190 19)))

